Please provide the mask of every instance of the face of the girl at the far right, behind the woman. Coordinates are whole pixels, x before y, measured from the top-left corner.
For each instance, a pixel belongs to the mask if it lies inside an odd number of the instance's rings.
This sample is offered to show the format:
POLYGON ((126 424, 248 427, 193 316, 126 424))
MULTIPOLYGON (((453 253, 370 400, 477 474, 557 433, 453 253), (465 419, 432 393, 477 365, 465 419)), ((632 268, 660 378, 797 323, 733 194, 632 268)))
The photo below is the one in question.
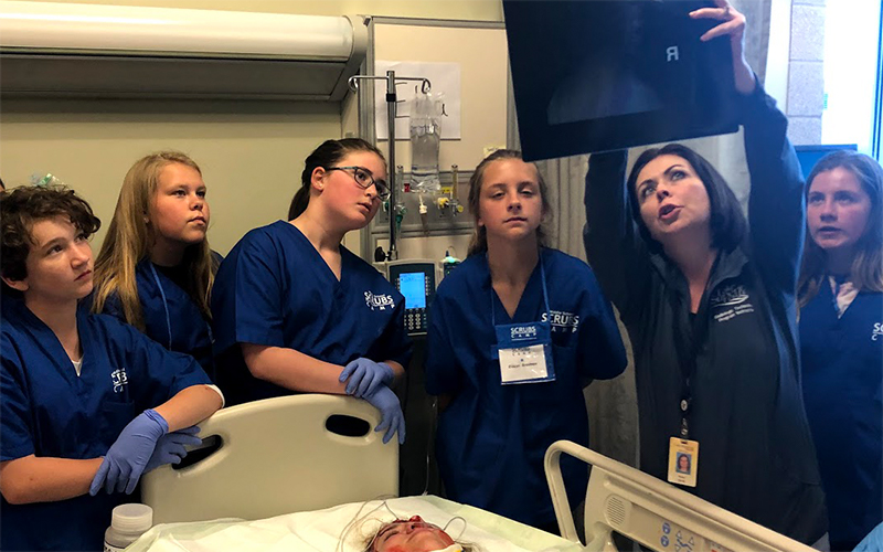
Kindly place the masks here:
POLYGON ((822 250, 851 253, 864 235, 870 213, 871 198, 851 170, 838 167, 812 179, 807 225, 822 250))

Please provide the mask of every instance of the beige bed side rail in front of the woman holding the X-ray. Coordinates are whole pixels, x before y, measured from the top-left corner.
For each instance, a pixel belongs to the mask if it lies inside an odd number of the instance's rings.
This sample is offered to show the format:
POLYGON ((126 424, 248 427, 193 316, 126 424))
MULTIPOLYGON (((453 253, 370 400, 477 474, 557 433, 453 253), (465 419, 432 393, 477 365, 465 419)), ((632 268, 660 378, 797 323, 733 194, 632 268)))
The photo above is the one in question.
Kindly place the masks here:
POLYGON ((813 549, 748 521, 666 481, 598 453, 558 440, 545 453, 545 475, 561 534, 579 542, 561 454, 592 466, 586 489, 586 551, 617 552, 616 531, 659 552, 813 552, 813 549))

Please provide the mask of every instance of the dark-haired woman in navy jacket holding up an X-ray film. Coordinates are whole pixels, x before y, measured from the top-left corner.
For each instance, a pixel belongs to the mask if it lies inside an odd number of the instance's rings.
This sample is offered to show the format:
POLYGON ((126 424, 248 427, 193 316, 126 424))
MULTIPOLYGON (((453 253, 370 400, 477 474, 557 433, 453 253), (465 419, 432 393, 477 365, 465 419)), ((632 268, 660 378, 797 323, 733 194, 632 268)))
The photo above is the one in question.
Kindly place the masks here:
POLYGON ((690 17, 722 21, 701 40, 731 41, 752 183, 747 225, 723 177, 684 146, 641 153, 625 189, 626 152, 596 153, 586 253, 631 337, 641 469, 816 543, 827 516, 796 320, 804 181, 787 119, 743 56, 745 18, 716 4, 690 17), (678 469, 682 456, 689 470, 678 469))

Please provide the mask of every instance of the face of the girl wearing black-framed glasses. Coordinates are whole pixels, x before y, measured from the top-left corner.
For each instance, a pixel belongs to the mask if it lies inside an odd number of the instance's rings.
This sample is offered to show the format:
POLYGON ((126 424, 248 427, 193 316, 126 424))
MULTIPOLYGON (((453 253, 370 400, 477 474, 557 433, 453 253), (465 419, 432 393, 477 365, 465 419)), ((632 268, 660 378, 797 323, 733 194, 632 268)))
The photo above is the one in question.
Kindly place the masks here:
MULTIPOLYGON (((352 151, 343 156, 333 167, 361 167, 374 180, 386 180, 386 163, 373 151, 352 151)), ((312 172, 312 185, 321 192, 321 201, 332 214, 341 230, 359 230, 368 226, 380 209, 381 200, 375 185, 362 188, 355 182, 352 169, 312 172)))

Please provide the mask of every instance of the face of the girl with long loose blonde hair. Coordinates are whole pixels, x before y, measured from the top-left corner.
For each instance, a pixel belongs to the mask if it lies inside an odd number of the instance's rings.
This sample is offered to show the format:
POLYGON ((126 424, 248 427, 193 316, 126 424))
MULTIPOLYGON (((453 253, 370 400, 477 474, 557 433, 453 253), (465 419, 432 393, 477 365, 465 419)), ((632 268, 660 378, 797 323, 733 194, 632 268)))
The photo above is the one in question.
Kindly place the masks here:
POLYGON ((185 247, 205 240, 211 216, 205 191, 202 176, 192 167, 162 168, 148 214, 158 244, 185 247))

